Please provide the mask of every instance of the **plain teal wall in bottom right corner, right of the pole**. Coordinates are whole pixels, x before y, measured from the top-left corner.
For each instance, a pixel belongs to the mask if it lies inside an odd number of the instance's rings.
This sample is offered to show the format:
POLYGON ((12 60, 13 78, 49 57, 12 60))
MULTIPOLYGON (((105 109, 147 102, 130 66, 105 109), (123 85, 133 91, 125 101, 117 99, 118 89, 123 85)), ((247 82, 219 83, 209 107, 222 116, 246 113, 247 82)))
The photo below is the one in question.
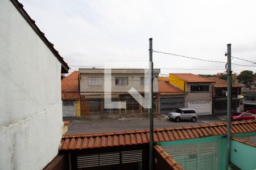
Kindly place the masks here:
POLYGON ((232 140, 230 161, 241 169, 256 169, 256 147, 232 140))

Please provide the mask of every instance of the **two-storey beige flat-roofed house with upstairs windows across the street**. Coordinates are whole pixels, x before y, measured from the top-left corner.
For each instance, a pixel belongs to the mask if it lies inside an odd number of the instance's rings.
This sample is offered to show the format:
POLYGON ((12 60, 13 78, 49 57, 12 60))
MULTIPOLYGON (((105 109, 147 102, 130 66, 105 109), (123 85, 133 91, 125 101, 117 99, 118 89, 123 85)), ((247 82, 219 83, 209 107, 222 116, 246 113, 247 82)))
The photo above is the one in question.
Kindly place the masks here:
MULTIPOLYGON (((154 69, 154 110, 158 112, 158 74, 154 69)), ((104 69, 79 69, 81 116, 99 113, 148 112, 129 94, 134 87, 144 95, 144 69, 112 69, 112 101, 126 101, 125 109, 104 108, 104 69)))

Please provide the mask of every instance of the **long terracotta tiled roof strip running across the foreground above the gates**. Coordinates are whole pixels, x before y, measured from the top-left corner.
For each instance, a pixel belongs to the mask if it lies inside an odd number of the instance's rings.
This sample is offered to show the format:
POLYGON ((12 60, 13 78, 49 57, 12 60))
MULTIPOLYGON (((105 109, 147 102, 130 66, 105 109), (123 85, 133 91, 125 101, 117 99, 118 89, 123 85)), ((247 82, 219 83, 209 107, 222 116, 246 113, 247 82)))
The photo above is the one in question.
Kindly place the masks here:
MULTIPOLYGON (((231 133, 256 131, 256 121, 232 122, 231 133)), ((192 138, 225 135, 226 123, 182 126, 154 129, 154 142, 166 142, 192 138)), ((139 145, 149 143, 149 130, 131 130, 109 133, 64 135, 59 150, 81 150, 113 146, 139 145)))

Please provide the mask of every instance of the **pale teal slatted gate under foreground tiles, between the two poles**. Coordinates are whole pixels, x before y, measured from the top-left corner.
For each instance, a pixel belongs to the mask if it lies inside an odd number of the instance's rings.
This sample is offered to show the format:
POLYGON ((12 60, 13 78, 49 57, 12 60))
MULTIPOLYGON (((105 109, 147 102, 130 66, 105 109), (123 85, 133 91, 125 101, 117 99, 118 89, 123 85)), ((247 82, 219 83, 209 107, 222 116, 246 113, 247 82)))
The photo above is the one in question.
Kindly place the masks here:
POLYGON ((191 143, 163 147, 184 169, 220 169, 220 142, 191 143))

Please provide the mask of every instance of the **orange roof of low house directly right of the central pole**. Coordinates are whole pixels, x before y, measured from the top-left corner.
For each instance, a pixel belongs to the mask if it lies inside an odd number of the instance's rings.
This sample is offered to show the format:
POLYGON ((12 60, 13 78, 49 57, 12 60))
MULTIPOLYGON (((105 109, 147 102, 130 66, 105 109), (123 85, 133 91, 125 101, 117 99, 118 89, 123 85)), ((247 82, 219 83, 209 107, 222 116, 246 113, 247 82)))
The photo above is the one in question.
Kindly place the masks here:
POLYGON ((164 80, 158 81, 159 95, 180 95, 183 91, 164 80))

